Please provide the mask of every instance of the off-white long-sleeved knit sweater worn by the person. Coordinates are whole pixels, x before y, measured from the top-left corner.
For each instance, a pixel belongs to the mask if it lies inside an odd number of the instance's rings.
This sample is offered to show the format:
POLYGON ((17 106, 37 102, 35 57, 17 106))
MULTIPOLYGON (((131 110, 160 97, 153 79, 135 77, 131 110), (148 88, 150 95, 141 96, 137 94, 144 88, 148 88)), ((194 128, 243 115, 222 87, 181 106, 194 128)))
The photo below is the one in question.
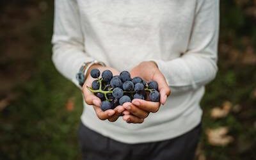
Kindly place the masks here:
POLYGON ((56 0, 52 60, 77 84, 83 62, 119 71, 154 60, 172 95, 143 124, 99 120, 84 104, 84 125, 124 143, 174 138, 198 125, 204 85, 217 71, 218 0, 56 0))

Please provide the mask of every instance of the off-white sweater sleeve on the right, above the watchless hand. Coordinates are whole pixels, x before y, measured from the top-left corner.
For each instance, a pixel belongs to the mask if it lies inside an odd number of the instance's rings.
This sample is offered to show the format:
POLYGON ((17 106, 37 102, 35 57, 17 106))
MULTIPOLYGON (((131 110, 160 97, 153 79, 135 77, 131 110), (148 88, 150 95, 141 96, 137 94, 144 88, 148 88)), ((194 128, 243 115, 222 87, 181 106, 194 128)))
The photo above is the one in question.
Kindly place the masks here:
POLYGON ((187 51, 171 61, 157 60, 172 92, 195 90, 216 76, 219 0, 198 0, 187 51))

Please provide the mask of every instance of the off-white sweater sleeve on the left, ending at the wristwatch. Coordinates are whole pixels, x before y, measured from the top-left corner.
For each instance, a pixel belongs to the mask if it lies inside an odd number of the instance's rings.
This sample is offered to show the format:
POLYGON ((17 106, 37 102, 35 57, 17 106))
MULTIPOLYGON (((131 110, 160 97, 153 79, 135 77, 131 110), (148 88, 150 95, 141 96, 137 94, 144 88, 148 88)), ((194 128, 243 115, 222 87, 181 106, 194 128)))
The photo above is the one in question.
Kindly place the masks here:
POLYGON ((84 51, 79 8, 76 0, 54 3, 54 33, 52 35, 52 61, 63 76, 79 86, 76 73, 86 61, 93 61, 84 51))

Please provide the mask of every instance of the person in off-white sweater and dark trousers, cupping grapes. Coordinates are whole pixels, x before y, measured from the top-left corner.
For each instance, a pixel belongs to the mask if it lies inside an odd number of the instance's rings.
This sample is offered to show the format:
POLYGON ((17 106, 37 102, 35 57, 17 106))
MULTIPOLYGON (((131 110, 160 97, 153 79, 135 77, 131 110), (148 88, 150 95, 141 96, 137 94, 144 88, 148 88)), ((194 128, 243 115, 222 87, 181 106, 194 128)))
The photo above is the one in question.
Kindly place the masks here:
POLYGON ((83 159, 193 159, 200 100, 216 76, 218 0, 55 0, 52 61, 79 86, 83 159), (160 102, 134 99, 102 111, 86 86, 92 68, 159 84, 160 102), (170 92, 172 94, 170 95, 170 92), (170 96, 169 96, 170 95, 170 96))

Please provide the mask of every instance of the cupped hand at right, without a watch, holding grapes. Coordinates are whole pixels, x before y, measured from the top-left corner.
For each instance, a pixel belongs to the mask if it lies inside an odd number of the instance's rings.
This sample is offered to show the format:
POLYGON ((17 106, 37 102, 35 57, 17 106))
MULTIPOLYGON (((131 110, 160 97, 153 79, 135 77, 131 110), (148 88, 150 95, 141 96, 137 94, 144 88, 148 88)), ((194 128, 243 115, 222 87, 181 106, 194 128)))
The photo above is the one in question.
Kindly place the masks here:
POLYGON ((132 102, 127 102, 123 106, 123 119, 127 123, 142 123, 147 118, 150 112, 157 112, 160 104, 164 104, 171 90, 166 83, 163 74, 160 72, 156 63, 153 61, 143 61, 131 70, 131 77, 141 77, 145 81, 156 81, 158 83, 158 90, 160 93, 160 102, 150 102, 142 99, 134 99, 132 102))

